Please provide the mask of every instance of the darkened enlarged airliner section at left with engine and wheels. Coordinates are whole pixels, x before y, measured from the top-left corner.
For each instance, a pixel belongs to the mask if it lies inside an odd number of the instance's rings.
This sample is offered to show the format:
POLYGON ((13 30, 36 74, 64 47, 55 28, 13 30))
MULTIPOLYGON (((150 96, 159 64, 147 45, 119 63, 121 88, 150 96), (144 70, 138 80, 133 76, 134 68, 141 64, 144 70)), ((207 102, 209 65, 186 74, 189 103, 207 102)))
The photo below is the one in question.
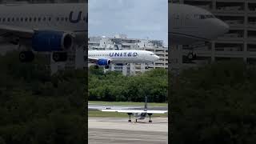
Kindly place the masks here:
POLYGON ((0 5, 0 37, 21 50, 21 62, 31 62, 34 52, 52 52, 55 62, 86 40, 87 3, 0 5), (23 46, 23 48, 22 48, 23 46))

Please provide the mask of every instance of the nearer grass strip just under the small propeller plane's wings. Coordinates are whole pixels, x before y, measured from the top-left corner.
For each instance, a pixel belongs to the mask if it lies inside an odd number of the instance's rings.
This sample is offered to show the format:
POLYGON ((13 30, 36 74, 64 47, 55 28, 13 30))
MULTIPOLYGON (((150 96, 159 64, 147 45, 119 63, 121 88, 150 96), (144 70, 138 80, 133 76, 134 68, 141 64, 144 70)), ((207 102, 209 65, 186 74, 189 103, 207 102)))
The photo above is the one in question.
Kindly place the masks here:
MULTIPOLYGON (((118 112, 103 112, 100 110, 88 110, 88 117, 119 117, 119 118, 128 118, 126 113, 118 112)), ((168 117, 168 114, 153 114, 152 117, 168 117)))

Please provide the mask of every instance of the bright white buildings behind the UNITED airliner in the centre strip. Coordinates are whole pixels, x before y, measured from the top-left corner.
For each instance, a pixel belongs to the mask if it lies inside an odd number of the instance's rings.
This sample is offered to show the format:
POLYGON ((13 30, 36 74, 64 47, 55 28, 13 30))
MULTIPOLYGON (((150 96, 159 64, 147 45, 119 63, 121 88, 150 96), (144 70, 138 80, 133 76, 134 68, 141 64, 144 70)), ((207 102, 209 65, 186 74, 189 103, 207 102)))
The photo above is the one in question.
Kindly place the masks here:
MULTIPOLYGON (((157 54, 160 59, 152 64, 129 63, 110 64, 112 71, 120 71, 124 75, 134 75, 144 73, 146 70, 167 68, 168 66, 168 46, 163 46, 162 40, 127 38, 126 34, 117 34, 113 38, 105 36, 89 37, 89 50, 149 50, 157 54), (149 69, 146 69, 149 66, 149 69)), ((89 66, 92 64, 89 64, 89 66)))

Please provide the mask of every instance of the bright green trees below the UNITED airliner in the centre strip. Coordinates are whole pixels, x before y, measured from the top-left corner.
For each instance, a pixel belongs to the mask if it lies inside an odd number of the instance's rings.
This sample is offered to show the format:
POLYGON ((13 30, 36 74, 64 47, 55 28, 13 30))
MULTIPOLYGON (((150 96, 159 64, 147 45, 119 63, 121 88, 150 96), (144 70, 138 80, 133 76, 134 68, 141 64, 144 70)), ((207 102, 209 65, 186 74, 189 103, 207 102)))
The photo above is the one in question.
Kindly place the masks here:
POLYGON ((166 69, 146 71, 145 74, 124 76, 120 72, 103 73, 102 69, 89 69, 88 91, 91 101, 166 102, 168 79, 166 69))

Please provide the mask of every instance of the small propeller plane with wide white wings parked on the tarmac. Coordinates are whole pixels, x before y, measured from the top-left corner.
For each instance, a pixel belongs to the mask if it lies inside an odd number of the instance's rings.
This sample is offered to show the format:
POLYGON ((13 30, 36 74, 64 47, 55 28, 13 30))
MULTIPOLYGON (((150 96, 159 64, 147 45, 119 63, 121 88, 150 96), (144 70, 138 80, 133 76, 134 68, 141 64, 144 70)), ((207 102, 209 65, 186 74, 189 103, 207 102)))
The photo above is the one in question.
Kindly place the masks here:
POLYGON ((105 112, 118 112, 118 113, 127 113, 129 115, 128 122, 131 122, 130 116, 134 115, 135 122, 138 122, 138 119, 145 119, 146 115, 150 117, 149 122, 152 122, 151 116, 153 114, 166 114, 168 110, 147 110, 147 97, 145 97, 145 106, 144 110, 122 110, 122 109, 101 109, 101 111, 105 112))

